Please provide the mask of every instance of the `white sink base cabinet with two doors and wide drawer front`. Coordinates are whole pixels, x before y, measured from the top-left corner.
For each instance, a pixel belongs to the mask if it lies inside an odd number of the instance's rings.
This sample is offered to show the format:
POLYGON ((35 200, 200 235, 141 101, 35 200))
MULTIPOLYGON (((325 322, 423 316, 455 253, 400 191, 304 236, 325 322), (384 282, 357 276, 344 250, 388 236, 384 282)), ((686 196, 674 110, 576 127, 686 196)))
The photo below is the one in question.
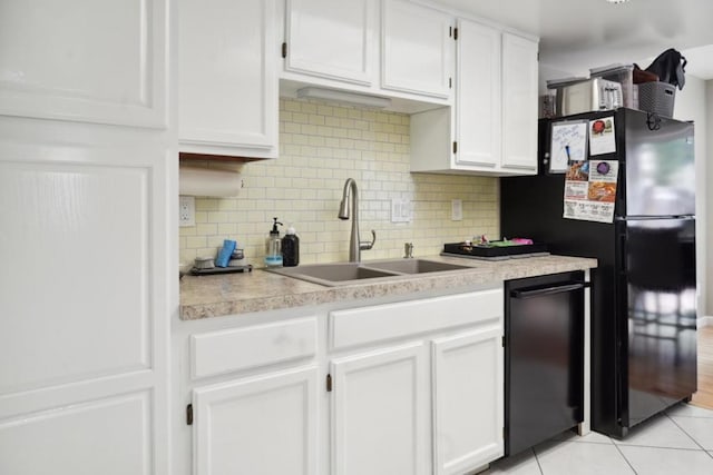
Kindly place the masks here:
POLYGON ((501 288, 336 310, 329 328, 350 352, 329 366, 332 474, 466 474, 502 455, 501 288))

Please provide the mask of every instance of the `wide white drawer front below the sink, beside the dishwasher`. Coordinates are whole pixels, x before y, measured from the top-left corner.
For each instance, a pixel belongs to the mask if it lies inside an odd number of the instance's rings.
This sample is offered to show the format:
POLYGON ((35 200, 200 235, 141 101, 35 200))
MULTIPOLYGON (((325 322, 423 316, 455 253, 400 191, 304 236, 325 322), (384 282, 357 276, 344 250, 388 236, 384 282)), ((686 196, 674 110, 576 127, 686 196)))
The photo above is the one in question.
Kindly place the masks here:
POLYGON ((346 348, 502 317, 502 288, 330 313, 330 346, 346 348))

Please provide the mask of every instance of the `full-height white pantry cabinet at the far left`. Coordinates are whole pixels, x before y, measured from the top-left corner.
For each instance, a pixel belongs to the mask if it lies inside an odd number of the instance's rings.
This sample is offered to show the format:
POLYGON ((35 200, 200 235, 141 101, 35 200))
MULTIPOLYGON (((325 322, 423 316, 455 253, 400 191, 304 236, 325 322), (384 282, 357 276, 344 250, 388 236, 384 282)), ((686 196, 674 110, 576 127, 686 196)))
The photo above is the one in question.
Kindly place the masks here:
POLYGON ((172 473, 173 7, 0 2, 1 474, 172 473))

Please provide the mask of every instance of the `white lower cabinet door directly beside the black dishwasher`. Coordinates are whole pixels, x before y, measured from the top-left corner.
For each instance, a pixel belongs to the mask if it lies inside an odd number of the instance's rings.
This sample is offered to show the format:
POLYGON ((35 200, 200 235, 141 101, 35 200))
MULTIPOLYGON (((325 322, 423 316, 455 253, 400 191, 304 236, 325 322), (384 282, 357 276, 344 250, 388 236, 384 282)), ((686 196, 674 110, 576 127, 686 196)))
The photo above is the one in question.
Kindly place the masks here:
POLYGON ((502 328, 432 343, 433 473, 462 474, 502 455, 502 328))

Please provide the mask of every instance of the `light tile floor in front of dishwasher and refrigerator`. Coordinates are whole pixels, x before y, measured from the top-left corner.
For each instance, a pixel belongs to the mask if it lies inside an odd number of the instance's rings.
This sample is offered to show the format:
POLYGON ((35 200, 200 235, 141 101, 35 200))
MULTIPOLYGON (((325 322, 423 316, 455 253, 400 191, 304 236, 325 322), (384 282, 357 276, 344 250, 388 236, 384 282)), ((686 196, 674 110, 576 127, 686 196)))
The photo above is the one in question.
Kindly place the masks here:
POLYGON ((565 433, 482 474, 713 475, 713 410, 681 404, 633 429, 624 441, 565 433))

